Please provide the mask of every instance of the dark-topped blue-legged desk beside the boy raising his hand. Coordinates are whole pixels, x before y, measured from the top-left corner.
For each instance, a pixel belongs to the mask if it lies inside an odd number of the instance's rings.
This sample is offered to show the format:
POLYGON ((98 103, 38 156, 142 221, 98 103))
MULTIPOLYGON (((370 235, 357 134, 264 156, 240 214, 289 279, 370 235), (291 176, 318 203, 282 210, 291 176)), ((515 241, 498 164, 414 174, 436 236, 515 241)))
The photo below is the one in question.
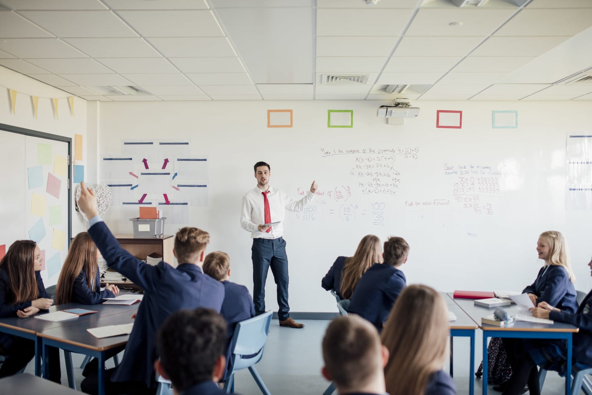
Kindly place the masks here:
MULTIPOLYGON (((139 305, 137 303, 135 306, 139 305)), ((134 306, 134 305, 133 305, 134 306)), ((130 306, 128 306, 130 307, 130 306)), ((70 352, 77 352, 78 354, 90 355, 98 359, 98 381, 99 381, 99 395, 105 394, 105 354, 110 349, 116 348, 127 343, 129 335, 112 336, 111 338, 97 339, 95 336, 88 333, 86 329, 107 325, 121 325, 133 322, 131 314, 133 311, 128 310, 118 314, 111 314, 109 316, 98 316, 97 314, 88 314, 91 316, 89 320, 76 322, 72 325, 65 325, 54 327, 52 329, 44 330, 38 333, 41 338, 43 348, 43 377, 49 377, 49 347, 57 347, 70 352)))

